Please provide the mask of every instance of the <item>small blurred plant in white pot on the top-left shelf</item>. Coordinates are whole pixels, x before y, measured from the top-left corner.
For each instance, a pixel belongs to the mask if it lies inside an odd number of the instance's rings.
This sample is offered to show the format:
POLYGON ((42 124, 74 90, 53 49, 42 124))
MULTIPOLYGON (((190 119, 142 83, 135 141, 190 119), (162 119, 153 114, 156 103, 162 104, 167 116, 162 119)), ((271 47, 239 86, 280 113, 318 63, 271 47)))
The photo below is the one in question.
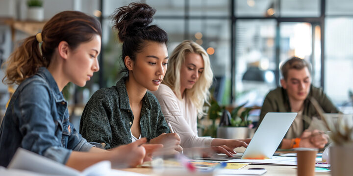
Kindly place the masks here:
POLYGON ((43 0, 27 0, 27 6, 27 20, 39 22, 44 20, 43 0))

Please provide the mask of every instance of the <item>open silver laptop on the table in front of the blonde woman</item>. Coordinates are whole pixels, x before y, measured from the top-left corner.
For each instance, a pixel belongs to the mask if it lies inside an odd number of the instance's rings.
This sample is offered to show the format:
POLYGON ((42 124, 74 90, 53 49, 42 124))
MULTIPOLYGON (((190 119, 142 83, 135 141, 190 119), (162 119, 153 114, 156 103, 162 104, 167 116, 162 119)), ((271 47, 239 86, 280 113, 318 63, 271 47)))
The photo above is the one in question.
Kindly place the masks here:
POLYGON ((292 125, 296 112, 268 112, 257 128, 244 154, 234 154, 233 157, 218 155, 213 160, 229 159, 265 159, 271 158, 276 149, 292 125), (223 157, 222 157, 223 156, 223 157))

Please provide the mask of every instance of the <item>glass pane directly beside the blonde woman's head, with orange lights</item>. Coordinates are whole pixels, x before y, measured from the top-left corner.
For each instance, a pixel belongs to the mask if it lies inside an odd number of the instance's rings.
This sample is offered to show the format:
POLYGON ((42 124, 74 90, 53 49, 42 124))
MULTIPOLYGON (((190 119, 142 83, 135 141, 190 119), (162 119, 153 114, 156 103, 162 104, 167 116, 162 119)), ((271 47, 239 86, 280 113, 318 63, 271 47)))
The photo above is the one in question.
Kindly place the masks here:
POLYGON ((214 98, 222 104, 230 101, 230 20, 197 19, 189 21, 189 40, 193 40, 209 55, 214 75, 211 89, 214 98))

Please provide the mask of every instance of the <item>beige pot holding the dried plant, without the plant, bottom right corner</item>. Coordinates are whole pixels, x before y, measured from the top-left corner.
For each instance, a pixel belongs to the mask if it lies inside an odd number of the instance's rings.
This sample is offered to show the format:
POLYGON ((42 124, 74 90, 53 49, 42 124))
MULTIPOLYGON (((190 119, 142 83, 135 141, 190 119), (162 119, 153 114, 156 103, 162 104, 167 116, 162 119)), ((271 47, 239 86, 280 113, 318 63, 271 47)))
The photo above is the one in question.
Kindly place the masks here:
POLYGON ((353 143, 330 148, 331 176, 349 176, 353 173, 353 143))

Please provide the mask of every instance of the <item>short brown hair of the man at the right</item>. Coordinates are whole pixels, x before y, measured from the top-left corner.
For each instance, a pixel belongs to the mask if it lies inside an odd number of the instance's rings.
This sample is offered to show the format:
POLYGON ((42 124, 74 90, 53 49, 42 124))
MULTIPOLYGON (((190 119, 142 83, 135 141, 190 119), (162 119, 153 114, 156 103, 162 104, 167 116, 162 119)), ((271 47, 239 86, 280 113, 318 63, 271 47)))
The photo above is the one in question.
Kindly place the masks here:
POLYGON ((310 64, 306 62, 304 59, 301 59, 299 57, 292 57, 288 61, 286 61, 282 66, 281 66, 281 72, 284 80, 287 80, 288 76, 288 71, 290 69, 296 69, 296 70, 301 70, 304 67, 307 67, 310 74, 311 74, 311 69, 310 69, 310 64))

